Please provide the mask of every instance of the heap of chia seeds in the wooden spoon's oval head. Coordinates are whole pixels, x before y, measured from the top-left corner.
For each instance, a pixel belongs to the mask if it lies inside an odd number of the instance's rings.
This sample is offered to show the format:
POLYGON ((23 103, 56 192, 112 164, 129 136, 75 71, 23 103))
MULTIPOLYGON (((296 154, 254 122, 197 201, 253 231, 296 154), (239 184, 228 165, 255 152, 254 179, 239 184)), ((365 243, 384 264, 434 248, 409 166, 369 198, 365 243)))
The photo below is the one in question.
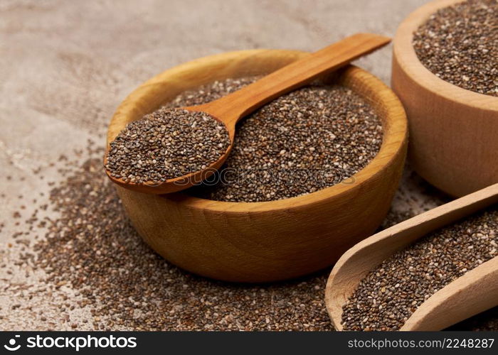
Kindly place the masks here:
POLYGON ((159 109, 120 132, 105 167, 125 182, 164 182, 205 169, 229 145, 225 126, 208 114, 159 109))

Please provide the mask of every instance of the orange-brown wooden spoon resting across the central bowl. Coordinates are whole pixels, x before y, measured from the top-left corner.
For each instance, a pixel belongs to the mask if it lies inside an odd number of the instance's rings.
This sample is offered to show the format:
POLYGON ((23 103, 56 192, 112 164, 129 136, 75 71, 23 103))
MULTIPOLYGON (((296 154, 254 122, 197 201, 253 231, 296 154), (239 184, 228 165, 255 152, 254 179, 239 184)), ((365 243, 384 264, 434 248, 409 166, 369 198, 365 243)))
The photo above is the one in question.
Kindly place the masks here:
MULTIPOLYGON (((373 52, 383 47, 391 41, 390 38, 382 35, 371 33, 357 33, 348 38, 344 38, 337 43, 329 45, 318 52, 292 62, 290 65, 272 72, 270 75, 254 82, 253 84, 243 87, 232 94, 221 97, 208 104, 202 104, 192 107, 182 107, 189 111, 203 111, 213 116, 218 121, 225 124, 230 136, 231 144, 226 152, 213 164, 205 170, 189 173, 178 178, 166 180, 161 183, 157 182, 125 182, 121 178, 112 177, 110 171, 106 169, 107 176, 118 185, 129 190, 146 192, 151 194, 166 194, 184 190, 192 185, 197 185, 202 180, 213 175, 215 171, 221 168, 221 165, 228 158, 233 147, 235 138, 235 124, 247 114, 255 111, 267 102, 290 92, 298 87, 308 84, 316 79, 319 75, 324 75, 333 70, 347 65, 349 62, 373 52)), ((107 147, 108 151, 109 147, 107 147)), ((106 158, 107 160, 107 153, 106 158)))

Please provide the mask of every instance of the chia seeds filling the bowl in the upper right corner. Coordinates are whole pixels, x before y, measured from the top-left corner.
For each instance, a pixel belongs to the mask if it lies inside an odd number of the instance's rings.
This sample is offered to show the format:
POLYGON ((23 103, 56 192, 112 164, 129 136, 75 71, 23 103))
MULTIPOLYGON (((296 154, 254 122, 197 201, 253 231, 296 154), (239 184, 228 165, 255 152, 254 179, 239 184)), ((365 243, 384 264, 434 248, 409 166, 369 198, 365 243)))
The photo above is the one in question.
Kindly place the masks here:
POLYGON ((413 47, 441 79, 498 96, 497 0, 467 0, 438 10, 414 33, 413 47))

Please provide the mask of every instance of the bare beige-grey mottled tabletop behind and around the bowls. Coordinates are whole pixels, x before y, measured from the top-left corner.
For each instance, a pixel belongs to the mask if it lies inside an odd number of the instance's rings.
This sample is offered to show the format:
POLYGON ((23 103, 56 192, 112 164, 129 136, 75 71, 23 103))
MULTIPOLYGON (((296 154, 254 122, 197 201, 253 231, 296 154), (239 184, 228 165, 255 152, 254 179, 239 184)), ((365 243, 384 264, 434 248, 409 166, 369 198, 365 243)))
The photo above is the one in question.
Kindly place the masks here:
MULTIPOLYGON (((46 329, 35 317, 41 314, 57 329, 91 319, 88 307, 68 307, 71 321, 59 322, 56 305, 64 298, 76 302, 74 291, 67 285, 48 290, 40 281, 43 271, 16 266, 26 246, 13 242, 12 234, 22 228, 16 222, 23 219, 12 214, 31 214, 26 197, 46 199, 39 192, 48 192, 47 181, 60 180, 57 164, 51 166, 60 154, 74 158, 73 148, 83 149, 88 138, 103 145, 112 112, 134 87, 204 55, 317 50, 360 31, 393 35, 424 2, 0 1, 0 329, 46 329), (39 175, 34 168, 41 169, 39 175), (29 299, 28 289, 37 290, 36 296, 29 299)), ((391 47, 358 64, 388 82, 391 47)), ((438 203, 406 181, 396 197, 400 209, 421 211, 438 203)))

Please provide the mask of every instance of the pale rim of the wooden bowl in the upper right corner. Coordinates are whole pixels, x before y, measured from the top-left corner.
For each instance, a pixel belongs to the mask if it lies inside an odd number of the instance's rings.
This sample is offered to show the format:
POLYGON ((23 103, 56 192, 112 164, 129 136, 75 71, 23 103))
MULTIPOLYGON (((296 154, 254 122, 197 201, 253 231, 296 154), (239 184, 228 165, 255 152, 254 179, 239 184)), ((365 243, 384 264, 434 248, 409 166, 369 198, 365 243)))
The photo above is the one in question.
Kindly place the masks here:
POLYGON ((439 9, 462 1, 465 0, 434 0, 410 13, 396 31, 393 40, 393 54, 406 75, 432 94, 465 106, 498 111, 498 97, 473 92, 437 77, 420 62, 412 45, 413 33, 429 16, 439 9))

